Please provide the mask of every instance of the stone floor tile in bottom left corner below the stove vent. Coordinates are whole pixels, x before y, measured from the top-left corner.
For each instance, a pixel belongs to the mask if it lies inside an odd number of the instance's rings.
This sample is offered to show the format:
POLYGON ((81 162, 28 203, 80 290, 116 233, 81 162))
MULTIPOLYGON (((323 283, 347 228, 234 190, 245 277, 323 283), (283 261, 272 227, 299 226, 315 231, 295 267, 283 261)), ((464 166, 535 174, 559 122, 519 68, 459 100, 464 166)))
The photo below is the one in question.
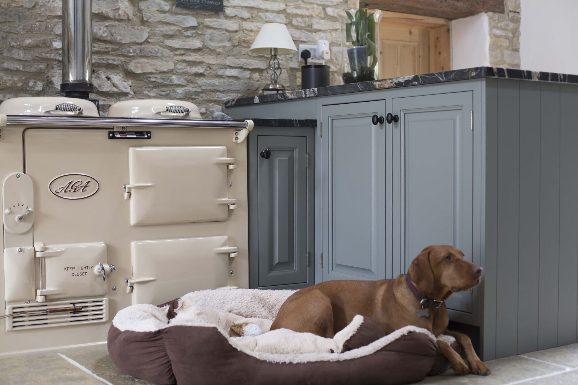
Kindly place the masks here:
POLYGON ((0 359, 0 383, 18 385, 102 385, 56 353, 35 353, 0 359))

